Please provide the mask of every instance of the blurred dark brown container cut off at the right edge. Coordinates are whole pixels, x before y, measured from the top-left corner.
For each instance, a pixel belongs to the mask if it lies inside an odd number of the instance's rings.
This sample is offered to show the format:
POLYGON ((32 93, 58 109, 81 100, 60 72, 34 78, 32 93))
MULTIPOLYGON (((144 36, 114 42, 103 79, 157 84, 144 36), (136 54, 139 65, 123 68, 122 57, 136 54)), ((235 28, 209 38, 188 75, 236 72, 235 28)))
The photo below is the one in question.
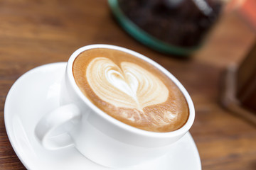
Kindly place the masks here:
POLYGON ((256 42, 240 64, 225 69, 221 103, 256 125, 256 42))

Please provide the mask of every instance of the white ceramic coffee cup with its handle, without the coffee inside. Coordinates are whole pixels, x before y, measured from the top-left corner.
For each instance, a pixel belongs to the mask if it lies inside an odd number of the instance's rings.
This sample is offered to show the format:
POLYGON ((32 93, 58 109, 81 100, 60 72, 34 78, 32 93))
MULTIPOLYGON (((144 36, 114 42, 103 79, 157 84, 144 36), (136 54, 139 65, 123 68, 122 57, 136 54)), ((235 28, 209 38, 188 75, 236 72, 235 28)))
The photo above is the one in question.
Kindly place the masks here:
MULTIPOLYGON (((171 144, 188 132, 195 111, 191 97, 182 84, 164 67, 132 50, 114 45, 87 45, 76 50, 68 60, 60 94, 60 107, 39 120, 36 137, 46 149, 75 147, 88 159, 108 167, 125 167, 161 157, 171 144), (183 127, 173 132, 150 132, 134 128, 104 113, 78 88, 73 77, 73 62, 78 55, 93 48, 121 50, 149 62, 174 81, 188 103, 189 116, 183 127)), ((175 156, 174 156, 175 157, 175 156)))

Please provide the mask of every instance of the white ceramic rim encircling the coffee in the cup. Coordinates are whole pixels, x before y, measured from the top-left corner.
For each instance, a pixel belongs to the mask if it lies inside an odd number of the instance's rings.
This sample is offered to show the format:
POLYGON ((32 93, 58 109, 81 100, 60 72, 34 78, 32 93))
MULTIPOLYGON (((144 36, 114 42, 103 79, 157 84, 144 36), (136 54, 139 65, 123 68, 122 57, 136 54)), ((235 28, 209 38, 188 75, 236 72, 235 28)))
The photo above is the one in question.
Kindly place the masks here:
POLYGON ((107 120, 109 123, 112 123, 114 125, 117 125, 119 128, 122 128, 123 130, 127 130, 129 132, 132 132, 137 135, 143 135, 147 137, 158 137, 158 138, 166 138, 166 137, 175 137, 179 135, 184 135, 188 130, 191 128, 193 125, 193 121, 195 119, 195 108, 193 106, 193 101, 191 99, 191 96, 189 96, 188 91, 183 87, 183 85, 174 77, 173 74, 171 74, 169 71, 167 71, 164 67, 162 67, 160 64, 154 62, 153 60, 149 59, 149 57, 146 57, 142 54, 139 54, 138 52, 135 52, 133 50, 129 50, 124 47, 119 47, 116 45, 105 45, 105 44, 93 44, 93 45, 86 45, 83 47, 80 47, 78 50, 75 50, 73 54, 70 56, 67 64, 67 69, 66 69, 66 74, 68 74, 68 80, 70 81, 70 84, 72 88, 75 90, 75 93, 84 101, 87 106, 92 108, 95 113, 100 115, 102 118, 107 120), (188 120, 186 121, 185 125, 183 125, 181 128, 178 130, 174 130, 171 132, 152 132, 152 131, 147 131, 147 130, 142 130, 139 128, 134 128, 131 125, 127 125, 125 123, 122 123, 121 121, 112 118, 112 116, 108 115, 104 111, 100 110, 100 108, 97 108, 88 98, 85 97, 84 94, 82 94, 82 91, 80 91, 78 85, 75 83, 75 78, 73 77, 73 62, 75 61, 75 58, 80 55, 81 52, 85 50, 90 50, 90 49, 95 49, 95 48, 107 48, 107 49, 112 49, 112 50, 120 50, 122 52, 127 52, 131 55, 134 55, 135 57, 139 57, 140 59, 149 62, 149 64, 152 64, 154 67, 159 69, 161 72, 166 74, 169 79, 174 81, 174 84, 178 87, 178 89, 181 90, 183 96, 186 98, 187 104, 188 104, 188 120))

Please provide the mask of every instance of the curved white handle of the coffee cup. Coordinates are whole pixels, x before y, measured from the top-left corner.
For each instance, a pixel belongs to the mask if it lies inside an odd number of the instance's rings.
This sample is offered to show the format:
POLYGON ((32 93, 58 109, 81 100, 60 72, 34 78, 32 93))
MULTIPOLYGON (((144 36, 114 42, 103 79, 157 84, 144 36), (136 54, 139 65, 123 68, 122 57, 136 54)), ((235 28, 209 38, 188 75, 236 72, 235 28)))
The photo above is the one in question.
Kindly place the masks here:
POLYGON ((50 150, 73 147, 69 133, 81 120, 78 106, 71 103, 47 113, 36 125, 35 134, 43 147, 50 150))

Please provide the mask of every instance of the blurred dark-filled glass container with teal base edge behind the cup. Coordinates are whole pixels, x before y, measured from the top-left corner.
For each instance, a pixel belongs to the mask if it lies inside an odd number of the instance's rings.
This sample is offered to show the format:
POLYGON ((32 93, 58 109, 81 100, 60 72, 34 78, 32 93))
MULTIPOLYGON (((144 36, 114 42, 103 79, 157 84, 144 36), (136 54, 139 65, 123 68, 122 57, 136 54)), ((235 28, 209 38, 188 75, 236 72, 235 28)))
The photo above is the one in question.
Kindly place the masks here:
POLYGON ((109 0, 120 25, 159 52, 190 55, 221 13, 218 0, 109 0))

